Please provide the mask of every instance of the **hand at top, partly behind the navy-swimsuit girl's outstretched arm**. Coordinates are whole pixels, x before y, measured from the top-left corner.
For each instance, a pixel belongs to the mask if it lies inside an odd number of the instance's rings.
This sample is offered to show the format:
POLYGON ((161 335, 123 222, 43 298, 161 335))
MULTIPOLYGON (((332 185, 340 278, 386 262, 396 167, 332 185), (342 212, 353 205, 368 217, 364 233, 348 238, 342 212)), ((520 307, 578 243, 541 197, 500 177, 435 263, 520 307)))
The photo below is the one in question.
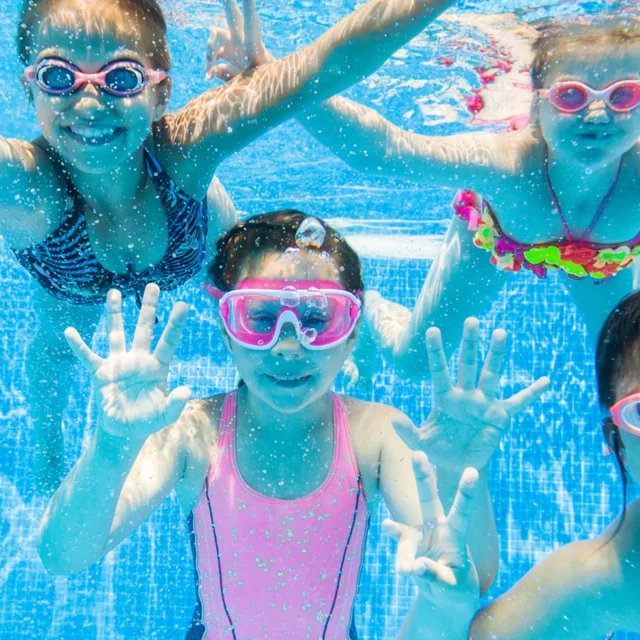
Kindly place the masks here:
POLYGON ((207 80, 231 80, 246 69, 271 60, 260 36, 256 0, 224 0, 229 29, 212 27, 207 43, 207 80), (244 13, 244 15, 243 15, 244 13))

